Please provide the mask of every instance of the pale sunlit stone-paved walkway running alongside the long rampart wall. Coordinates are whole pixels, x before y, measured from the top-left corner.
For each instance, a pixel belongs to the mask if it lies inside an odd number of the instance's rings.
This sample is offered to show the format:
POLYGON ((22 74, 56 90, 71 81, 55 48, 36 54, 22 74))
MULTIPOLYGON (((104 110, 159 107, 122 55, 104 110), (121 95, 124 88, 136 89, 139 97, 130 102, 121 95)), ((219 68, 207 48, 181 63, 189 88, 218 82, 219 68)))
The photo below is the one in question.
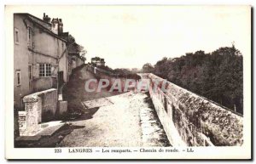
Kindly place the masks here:
MULTIPOLYGON (((90 98, 84 99, 84 85, 79 82, 85 82, 92 77, 93 74, 82 68, 77 77, 73 76, 74 83, 79 79, 77 85, 67 88, 78 93, 73 93, 73 102, 80 104, 75 107, 79 106, 84 114, 70 122, 81 128, 73 129, 58 147, 170 146, 148 94, 94 93, 103 95, 100 96, 89 93, 90 98)), ((70 109, 72 105, 69 105, 70 109)))

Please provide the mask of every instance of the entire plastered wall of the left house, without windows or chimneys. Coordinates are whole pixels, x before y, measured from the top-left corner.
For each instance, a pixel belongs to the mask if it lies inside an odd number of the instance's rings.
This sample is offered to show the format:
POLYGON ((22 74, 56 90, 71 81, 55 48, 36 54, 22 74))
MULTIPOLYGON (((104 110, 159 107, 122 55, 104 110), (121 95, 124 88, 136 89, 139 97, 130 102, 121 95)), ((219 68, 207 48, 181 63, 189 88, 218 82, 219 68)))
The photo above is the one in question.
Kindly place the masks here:
MULTIPOLYGON (((26 14, 14 15, 14 27, 19 31, 19 42, 15 43, 15 108, 22 109, 22 98, 30 93, 57 88, 58 72, 63 71, 67 82, 67 44, 40 25, 26 19, 26 14), (32 28, 32 46, 28 45, 27 26, 32 28), (61 57, 61 59, 58 59, 61 57), (39 76, 39 64, 51 64, 51 76, 39 76), (29 79, 29 65, 32 66, 32 79, 29 79), (20 71, 21 84, 17 86, 16 71, 20 71)), ((14 29, 14 32, 15 32, 14 29)))

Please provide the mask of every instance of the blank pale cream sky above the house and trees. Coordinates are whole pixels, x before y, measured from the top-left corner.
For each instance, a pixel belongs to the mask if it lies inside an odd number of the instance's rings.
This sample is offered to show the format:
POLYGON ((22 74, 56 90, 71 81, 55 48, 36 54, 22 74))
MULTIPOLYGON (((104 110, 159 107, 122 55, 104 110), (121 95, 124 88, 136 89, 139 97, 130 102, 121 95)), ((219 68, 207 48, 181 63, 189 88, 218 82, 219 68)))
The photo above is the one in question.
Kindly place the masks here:
POLYGON ((14 12, 61 18, 63 30, 111 68, 142 68, 163 57, 175 58, 220 47, 250 54, 248 6, 16 6, 14 12))

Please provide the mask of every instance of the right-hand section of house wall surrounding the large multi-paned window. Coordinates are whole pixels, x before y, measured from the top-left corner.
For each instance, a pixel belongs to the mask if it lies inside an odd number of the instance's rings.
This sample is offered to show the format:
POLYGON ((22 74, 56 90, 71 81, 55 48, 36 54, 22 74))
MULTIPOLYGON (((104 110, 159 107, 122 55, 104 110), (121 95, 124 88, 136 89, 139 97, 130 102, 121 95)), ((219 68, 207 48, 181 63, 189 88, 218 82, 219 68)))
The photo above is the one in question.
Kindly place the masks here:
MULTIPOLYGON (((63 71, 63 80, 67 82, 67 45, 66 42, 60 38, 53 37, 47 32, 40 30, 39 28, 34 29, 35 36, 35 55, 34 64, 49 63, 52 65, 52 77, 39 77, 44 80, 35 81, 38 88, 52 88, 55 87, 55 80, 58 77, 58 71, 63 71), (51 56, 51 57, 49 57, 51 56), (58 59, 60 58, 61 59, 58 59), (52 84, 51 87, 45 88, 45 84, 52 84)), ((36 66, 36 70, 38 66, 36 66)), ((36 73, 36 78, 38 73, 36 73)), ((49 86, 49 85, 48 85, 49 86)), ((42 89, 41 89, 42 90, 42 89)), ((38 91, 38 89, 36 90, 38 91)))

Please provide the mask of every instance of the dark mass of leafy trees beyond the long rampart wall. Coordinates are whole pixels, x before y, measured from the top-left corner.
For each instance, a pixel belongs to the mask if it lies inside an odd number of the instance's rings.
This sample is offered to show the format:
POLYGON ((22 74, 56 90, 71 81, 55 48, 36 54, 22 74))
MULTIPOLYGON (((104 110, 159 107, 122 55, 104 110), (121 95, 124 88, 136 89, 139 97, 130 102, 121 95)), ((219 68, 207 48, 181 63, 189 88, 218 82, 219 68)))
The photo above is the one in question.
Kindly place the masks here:
MULTIPOLYGON (((175 59, 163 58, 153 68, 150 72, 155 75, 243 113, 242 55, 234 45, 209 54, 197 51, 175 59)), ((150 69, 148 64, 143 66, 143 71, 150 69)))

